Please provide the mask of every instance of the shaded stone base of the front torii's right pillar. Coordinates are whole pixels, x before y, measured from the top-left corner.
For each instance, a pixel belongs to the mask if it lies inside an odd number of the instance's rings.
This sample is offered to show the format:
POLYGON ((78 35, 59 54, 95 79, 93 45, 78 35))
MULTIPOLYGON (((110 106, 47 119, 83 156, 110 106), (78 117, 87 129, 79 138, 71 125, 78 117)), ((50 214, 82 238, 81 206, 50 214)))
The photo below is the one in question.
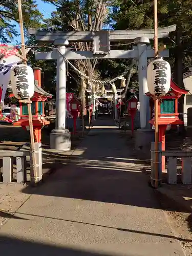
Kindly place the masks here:
POLYGON ((134 132, 135 148, 136 150, 143 150, 151 148, 151 142, 155 141, 155 130, 152 129, 138 129, 134 132))

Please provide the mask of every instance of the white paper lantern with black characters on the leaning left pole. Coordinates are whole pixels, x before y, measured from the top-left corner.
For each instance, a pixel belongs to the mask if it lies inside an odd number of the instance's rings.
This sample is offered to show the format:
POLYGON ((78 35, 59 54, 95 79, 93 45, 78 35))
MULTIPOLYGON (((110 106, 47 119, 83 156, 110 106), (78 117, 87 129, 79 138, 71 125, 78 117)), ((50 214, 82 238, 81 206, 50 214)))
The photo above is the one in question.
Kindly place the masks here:
POLYGON ((35 89, 33 69, 24 64, 11 68, 11 87, 17 99, 33 97, 35 89))

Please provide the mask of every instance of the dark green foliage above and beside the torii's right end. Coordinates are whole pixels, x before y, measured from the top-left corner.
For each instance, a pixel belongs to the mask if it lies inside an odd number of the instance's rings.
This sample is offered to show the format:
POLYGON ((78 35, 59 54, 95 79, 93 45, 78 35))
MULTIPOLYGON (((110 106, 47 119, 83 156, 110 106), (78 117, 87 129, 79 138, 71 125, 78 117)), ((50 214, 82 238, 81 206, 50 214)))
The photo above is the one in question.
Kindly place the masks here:
MULTIPOLYGON (((118 0, 111 14, 114 29, 152 29, 154 10, 151 0, 118 0)), ((192 6, 190 0, 158 0, 158 27, 177 25, 169 38, 159 39, 170 50, 168 61, 172 65, 175 81, 183 86, 182 70, 191 65, 192 6)), ((153 46, 153 41, 151 42, 153 46)))

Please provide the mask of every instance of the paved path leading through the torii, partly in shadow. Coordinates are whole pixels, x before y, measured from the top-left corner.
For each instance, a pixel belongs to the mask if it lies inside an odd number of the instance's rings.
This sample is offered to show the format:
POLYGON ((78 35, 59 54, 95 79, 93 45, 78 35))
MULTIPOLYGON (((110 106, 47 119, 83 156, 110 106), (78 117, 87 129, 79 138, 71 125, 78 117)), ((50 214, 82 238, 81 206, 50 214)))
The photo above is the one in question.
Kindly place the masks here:
POLYGON ((2 226, 2 255, 183 256, 130 151, 113 123, 98 120, 2 226))

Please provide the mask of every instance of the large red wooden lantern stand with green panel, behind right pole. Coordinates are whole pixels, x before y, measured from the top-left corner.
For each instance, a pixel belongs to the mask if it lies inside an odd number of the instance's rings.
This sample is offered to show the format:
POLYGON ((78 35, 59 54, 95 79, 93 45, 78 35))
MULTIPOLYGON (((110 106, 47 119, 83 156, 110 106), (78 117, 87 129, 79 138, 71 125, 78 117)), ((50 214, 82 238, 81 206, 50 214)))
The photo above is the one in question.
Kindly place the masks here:
MULTIPOLYGON (((161 97, 159 101, 159 110, 158 110, 158 126, 159 126, 159 142, 162 143, 162 151, 165 151, 165 131, 167 125, 178 125, 184 124, 184 122, 179 118, 178 113, 178 99, 182 94, 187 94, 188 91, 180 88, 177 84, 170 80, 170 90, 169 92, 161 97)), ((153 117, 154 109, 154 100, 150 93, 146 93, 147 96, 150 96, 150 106, 151 106, 151 118, 150 123, 155 125, 155 118, 153 117)), ((165 157, 162 156, 162 171, 165 170, 165 157)))

